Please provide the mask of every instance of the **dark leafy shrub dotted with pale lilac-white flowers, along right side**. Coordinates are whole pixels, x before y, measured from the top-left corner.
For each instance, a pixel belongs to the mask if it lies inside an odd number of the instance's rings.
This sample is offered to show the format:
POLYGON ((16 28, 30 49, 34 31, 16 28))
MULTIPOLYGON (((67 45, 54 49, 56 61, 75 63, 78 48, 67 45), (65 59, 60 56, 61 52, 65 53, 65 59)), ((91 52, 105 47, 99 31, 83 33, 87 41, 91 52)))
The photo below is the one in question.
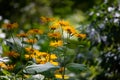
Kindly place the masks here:
POLYGON ((91 10, 90 24, 88 29, 91 40, 90 50, 96 47, 99 50, 98 58, 101 60, 99 66, 102 71, 95 77, 105 80, 119 80, 119 33, 120 33, 120 14, 119 3, 108 0, 100 6, 91 10))

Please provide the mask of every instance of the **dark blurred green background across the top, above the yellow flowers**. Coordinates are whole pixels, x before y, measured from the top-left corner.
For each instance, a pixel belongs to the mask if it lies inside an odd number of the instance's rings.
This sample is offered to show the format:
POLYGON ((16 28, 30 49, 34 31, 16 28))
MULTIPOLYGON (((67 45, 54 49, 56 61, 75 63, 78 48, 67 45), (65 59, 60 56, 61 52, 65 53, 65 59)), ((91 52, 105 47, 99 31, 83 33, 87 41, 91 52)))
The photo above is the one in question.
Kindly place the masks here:
POLYGON ((0 0, 0 16, 10 21, 26 23, 38 21, 40 16, 59 16, 60 18, 84 13, 103 0, 0 0))

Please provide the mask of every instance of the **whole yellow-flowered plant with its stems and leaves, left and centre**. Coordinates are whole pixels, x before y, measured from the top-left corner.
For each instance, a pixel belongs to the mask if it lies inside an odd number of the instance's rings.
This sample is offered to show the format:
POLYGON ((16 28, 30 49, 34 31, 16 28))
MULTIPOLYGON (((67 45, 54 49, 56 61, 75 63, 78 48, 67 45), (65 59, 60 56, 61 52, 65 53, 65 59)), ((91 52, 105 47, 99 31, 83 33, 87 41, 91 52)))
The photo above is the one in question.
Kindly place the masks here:
POLYGON ((84 46, 81 43, 86 34, 65 20, 40 17, 40 21, 46 30, 33 26, 25 31, 17 23, 2 25, 8 38, 1 40, 1 56, 9 60, 0 62, 0 79, 68 80, 74 77, 70 72, 77 74, 87 69, 74 62, 76 48, 84 46))

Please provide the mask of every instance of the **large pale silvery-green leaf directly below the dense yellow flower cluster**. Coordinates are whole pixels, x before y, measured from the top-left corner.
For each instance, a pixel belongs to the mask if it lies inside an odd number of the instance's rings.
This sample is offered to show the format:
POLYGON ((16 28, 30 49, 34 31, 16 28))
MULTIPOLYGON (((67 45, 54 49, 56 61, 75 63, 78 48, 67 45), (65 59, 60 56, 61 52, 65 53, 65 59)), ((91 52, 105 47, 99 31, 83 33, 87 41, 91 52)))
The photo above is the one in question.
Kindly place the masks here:
POLYGON ((34 65, 27 66, 23 70, 23 72, 27 74, 38 74, 38 73, 42 73, 50 69, 56 69, 56 68, 58 68, 58 66, 54 66, 48 62, 46 64, 34 64, 34 65))

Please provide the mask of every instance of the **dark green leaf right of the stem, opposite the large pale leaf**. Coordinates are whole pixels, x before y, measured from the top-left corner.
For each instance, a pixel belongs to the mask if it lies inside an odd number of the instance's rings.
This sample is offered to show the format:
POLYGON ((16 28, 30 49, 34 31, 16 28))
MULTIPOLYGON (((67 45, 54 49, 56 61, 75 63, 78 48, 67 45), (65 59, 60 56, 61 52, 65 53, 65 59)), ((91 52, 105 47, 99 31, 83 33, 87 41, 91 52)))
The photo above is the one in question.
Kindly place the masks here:
POLYGON ((84 64, 69 63, 67 64, 67 69, 74 73, 80 73, 87 70, 87 67, 84 64))

